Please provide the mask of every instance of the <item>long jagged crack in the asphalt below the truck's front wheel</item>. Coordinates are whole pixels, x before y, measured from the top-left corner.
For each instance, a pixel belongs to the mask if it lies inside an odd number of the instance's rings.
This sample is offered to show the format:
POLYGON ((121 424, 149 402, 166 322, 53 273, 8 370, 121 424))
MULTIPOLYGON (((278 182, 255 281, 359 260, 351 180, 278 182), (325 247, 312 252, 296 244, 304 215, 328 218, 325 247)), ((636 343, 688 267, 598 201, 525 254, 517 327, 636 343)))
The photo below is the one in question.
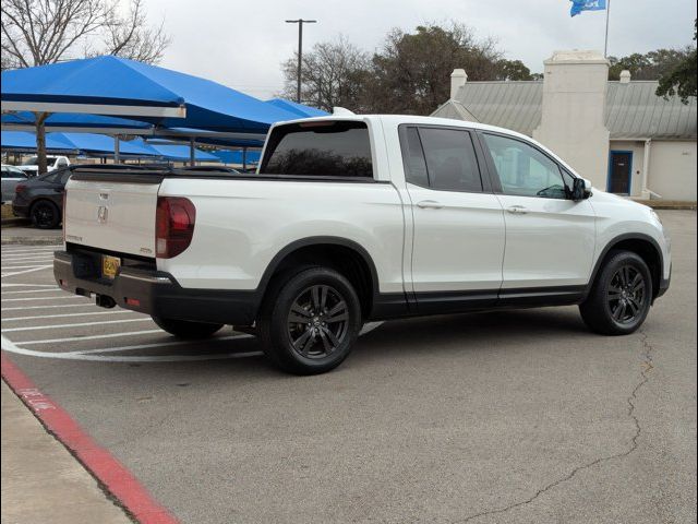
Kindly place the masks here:
POLYGON ((556 486, 559 486, 561 484, 564 484, 568 480, 571 480, 575 475, 577 475, 579 472, 588 469, 590 467, 595 466, 597 464, 601 464, 603 462, 607 462, 607 461, 612 461, 614 458, 623 458, 628 456, 630 453, 633 453, 635 450, 637 450, 638 448, 638 439, 640 438, 640 434, 642 432, 642 428, 640 426, 640 420, 637 418, 637 416, 635 415, 635 409, 636 409, 636 405, 635 402, 637 401, 637 394, 640 391, 640 389, 647 384, 647 382, 650 380, 648 373, 654 368, 653 366, 653 359, 652 359, 652 345, 649 343, 648 341, 648 336, 647 333, 642 330, 638 331, 640 336, 641 336, 641 344, 642 344, 642 354, 640 355, 643 360, 642 360, 642 371, 640 371, 640 380, 639 382, 635 385, 635 388, 633 389, 633 392, 630 393, 630 395, 626 398, 626 402, 628 403, 628 417, 630 417, 633 419, 633 424, 635 425, 635 434, 633 436, 633 438, 630 439, 630 448, 626 451, 623 451, 621 453, 615 453, 613 455, 609 455, 609 456, 601 456, 594 461, 588 462, 586 464, 582 464, 580 466, 575 467, 571 472, 569 472, 567 475, 565 475, 564 477, 558 478, 557 480, 554 480, 550 484, 547 484, 546 486, 542 487, 541 489, 539 489, 538 491, 535 491, 535 493, 533 496, 531 496, 530 498, 519 501, 519 502, 514 502, 507 507, 504 508, 496 508, 494 510, 486 510, 486 511, 482 511, 480 513, 476 513, 473 515, 467 516, 461 521, 456 521, 454 524, 456 523, 467 523, 467 522, 471 522, 474 521, 476 519, 480 519, 482 516, 490 516, 490 515, 496 515, 496 514, 501 514, 501 513, 506 513, 507 511, 514 510, 516 508, 520 508, 522 505, 527 505, 530 504, 531 502, 533 502, 535 499, 538 499, 540 496, 542 496, 543 493, 547 492, 549 490, 553 489, 556 486))

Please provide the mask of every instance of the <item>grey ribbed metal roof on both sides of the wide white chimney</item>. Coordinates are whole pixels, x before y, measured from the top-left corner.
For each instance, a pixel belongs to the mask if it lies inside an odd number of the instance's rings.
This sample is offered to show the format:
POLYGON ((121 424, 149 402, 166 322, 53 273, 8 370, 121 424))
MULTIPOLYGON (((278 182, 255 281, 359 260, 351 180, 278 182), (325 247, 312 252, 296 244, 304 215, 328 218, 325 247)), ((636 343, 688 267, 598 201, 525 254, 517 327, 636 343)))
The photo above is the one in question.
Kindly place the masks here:
MULTIPOLYGON (((611 139, 696 139, 696 98, 657 96, 658 82, 609 82, 606 128, 611 139)), ((468 82, 433 117, 472 120, 527 135, 541 122, 543 82, 468 82), (472 118, 469 118, 471 116, 472 118)))

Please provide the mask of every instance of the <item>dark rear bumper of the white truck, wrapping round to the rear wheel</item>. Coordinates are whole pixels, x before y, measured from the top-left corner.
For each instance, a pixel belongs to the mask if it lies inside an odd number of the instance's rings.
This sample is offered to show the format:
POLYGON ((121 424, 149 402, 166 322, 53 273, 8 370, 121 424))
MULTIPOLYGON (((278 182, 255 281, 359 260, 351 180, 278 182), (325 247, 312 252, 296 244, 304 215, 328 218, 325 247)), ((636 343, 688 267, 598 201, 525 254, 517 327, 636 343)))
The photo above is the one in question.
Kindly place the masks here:
POLYGON ((53 276, 67 291, 110 297, 124 309, 163 319, 251 325, 260 303, 255 291, 183 288, 161 271, 121 267, 113 279, 98 271, 95 255, 57 251, 53 257, 53 276))

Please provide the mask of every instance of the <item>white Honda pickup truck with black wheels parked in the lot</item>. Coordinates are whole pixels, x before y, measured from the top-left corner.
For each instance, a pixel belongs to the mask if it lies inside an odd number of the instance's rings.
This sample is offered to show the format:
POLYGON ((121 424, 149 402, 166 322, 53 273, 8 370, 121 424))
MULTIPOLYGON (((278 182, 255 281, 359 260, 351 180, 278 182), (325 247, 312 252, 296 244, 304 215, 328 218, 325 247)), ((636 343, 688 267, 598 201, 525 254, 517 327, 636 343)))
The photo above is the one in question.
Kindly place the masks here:
POLYGON ((181 337, 245 326, 294 373, 339 365, 370 320, 576 303, 631 333, 671 275, 651 209, 527 136, 435 118, 278 123, 253 175, 76 169, 64 212, 64 289, 181 337))

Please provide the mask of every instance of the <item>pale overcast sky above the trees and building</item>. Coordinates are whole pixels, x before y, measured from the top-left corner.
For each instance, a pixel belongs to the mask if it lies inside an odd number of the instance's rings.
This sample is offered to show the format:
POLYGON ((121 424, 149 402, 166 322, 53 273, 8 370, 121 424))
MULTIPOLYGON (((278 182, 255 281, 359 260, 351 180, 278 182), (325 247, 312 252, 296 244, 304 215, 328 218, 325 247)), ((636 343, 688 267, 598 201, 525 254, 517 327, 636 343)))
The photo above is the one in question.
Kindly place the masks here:
MULTIPOLYGON (((380 49, 393 27, 455 20, 492 36, 509 59, 541 72, 556 49, 603 51, 605 12, 571 19, 569 0, 148 0, 149 19, 165 20, 172 43, 161 66, 268 98, 282 86, 280 62, 298 45, 287 19, 315 19, 303 27, 303 48, 345 35, 380 49)), ((609 53, 624 56, 691 41, 695 0, 611 0, 609 53)))

